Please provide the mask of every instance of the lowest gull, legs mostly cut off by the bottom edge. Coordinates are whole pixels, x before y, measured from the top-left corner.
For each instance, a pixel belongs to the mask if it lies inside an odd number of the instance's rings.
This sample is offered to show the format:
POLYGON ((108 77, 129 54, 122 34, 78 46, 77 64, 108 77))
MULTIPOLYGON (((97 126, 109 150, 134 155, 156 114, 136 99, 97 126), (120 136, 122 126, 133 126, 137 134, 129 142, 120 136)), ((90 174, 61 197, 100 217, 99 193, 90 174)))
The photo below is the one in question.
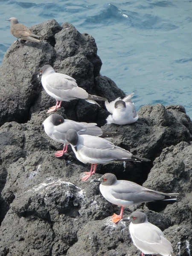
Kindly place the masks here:
POLYGON ((134 245, 142 251, 142 256, 152 254, 157 256, 175 256, 172 244, 166 239, 163 232, 157 226, 147 220, 143 212, 132 212, 128 218, 122 221, 131 221, 129 232, 134 245))

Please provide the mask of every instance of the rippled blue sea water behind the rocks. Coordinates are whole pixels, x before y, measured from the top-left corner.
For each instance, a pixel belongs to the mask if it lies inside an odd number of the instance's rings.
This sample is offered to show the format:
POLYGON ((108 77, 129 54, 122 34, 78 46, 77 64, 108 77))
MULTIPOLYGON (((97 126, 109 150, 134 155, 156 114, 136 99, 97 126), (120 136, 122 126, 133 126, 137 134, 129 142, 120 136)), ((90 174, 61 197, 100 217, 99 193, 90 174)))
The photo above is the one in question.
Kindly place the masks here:
POLYGON ((192 118, 192 0, 1 0, 0 17, 0 63, 15 41, 5 19, 70 22, 93 35, 102 75, 134 92, 137 110, 181 104, 192 118))

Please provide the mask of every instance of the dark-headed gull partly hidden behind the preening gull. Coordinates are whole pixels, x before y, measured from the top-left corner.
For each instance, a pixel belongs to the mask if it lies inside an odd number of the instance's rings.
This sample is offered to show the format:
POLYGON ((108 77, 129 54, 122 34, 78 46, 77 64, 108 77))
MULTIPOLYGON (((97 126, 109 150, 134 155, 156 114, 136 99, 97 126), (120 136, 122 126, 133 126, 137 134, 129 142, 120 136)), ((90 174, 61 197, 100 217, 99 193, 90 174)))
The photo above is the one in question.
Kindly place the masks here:
POLYGON ((73 120, 64 119, 63 116, 56 113, 47 117, 43 122, 43 125, 46 134, 52 140, 64 144, 63 150, 55 153, 56 157, 62 157, 62 155, 67 152, 69 143, 66 139, 66 134, 70 129, 74 129, 78 134, 89 134, 93 136, 109 137, 118 134, 117 132, 103 132, 101 128, 96 126, 96 123, 75 122, 73 120))

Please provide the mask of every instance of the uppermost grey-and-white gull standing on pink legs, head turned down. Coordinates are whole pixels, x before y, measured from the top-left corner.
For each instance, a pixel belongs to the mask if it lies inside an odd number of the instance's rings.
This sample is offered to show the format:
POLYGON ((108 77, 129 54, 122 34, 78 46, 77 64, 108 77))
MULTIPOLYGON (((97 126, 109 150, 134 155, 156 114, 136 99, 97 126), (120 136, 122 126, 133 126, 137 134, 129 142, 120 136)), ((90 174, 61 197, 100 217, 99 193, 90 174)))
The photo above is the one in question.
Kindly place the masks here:
POLYGON ((53 112, 57 108, 61 108, 62 101, 71 101, 73 99, 85 99, 90 103, 97 104, 95 100, 107 100, 105 98, 88 94, 86 90, 78 87, 76 80, 65 74, 56 73, 50 65, 44 65, 41 67, 40 74, 41 83, 46 92, 54 99, 56 99, 56 105, 47 111, 53 112))

